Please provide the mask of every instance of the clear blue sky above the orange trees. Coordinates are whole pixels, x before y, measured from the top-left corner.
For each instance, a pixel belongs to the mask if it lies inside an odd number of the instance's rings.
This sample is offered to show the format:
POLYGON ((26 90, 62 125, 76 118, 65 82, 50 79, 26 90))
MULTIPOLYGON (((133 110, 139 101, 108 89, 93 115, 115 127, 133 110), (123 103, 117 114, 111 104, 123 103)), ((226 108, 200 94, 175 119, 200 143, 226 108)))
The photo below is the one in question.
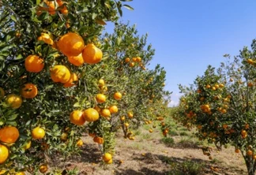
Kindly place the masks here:
POLYGON ((224 54, 238 55, 256 38, 254 0, 134 0, 126 2, 123 22, 136 24, 139 35, 149 34, 156 49, 149 66, 167 71, 165 89, 179 102, 178 84, 193 84, 207 65, 218 67, 224 54))

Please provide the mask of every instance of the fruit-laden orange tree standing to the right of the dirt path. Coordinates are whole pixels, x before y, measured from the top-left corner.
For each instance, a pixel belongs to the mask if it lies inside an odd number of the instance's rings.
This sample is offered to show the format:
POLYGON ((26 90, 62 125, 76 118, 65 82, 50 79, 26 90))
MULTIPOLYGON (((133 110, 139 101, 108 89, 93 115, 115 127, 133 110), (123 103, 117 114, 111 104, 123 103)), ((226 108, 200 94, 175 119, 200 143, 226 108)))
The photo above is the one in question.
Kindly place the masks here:
MULTIPOLYGON (((255 40, 215 70, 209 66, 190 87, 179 86, 184 94, 176 118, 188 128, 196 126, 200 140, 216 147, 231 143, 243 155, 248 174, 256 169, 255 142, 255 40)), ((205 155, 210 156, 207 149, 205 155)))

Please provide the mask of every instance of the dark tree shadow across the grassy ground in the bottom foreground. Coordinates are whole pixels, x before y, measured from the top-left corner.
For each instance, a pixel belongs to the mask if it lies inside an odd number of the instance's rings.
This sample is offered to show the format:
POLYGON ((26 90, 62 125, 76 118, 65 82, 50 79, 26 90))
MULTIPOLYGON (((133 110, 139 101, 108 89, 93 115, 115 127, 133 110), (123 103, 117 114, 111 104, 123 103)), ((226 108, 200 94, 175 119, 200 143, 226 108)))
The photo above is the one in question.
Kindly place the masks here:
MULTIPOLYGON (((205 161, 201 158, 176 158, 166 155, 133 155, 136 162, 144 162, 146 166, 141 166, 141 169, 117 169, 117 175, 202 175, 202 174, 227 174, 227 175, 242 175, 247 174, 241 169, 220 167, 219 165, 205 161), (157 170, 157 166, 164 166, 165 169, 157 170), (153 166, 152 166, 153 165, 153 166)), ((141 164, 142 165, 142 164, 141 164)))

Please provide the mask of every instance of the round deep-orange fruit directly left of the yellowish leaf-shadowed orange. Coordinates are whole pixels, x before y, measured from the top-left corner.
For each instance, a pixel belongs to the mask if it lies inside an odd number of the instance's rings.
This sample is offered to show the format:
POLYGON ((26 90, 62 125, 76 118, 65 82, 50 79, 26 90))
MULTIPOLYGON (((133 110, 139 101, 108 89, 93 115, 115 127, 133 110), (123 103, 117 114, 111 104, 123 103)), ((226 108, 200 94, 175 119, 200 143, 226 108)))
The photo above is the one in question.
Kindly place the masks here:
POLYGON ((30 73, 39 73, 43 70, 43 59, 37 55, 29 55, 24 61, 25 69, 30 73))

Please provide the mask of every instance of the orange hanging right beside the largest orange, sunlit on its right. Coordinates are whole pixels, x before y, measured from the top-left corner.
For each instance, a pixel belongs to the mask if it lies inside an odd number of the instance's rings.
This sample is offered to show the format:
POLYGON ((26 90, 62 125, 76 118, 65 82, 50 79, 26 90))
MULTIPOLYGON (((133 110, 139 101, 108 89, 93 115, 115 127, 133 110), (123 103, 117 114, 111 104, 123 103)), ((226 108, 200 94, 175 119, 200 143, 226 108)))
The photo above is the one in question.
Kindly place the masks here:
POLYGON ((101 61, 102 57, 102 51, 92 43, 88 44, 83 50, 83 58, 87 64, 96 64, 101 61))

